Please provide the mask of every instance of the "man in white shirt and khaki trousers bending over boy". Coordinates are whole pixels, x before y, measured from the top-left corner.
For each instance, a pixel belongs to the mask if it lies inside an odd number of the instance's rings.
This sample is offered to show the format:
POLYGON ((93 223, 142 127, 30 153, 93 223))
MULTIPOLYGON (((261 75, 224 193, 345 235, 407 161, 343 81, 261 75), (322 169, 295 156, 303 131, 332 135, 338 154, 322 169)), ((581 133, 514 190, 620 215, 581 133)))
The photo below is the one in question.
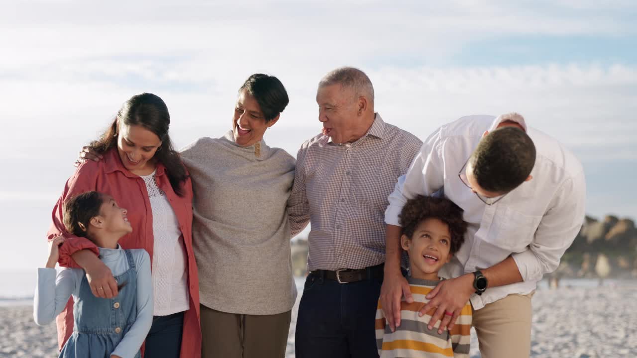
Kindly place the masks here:
POLYGON ((412 301, 400 273, 398 215, 407 199, 441 189, 464 210, 469 227, 464 245, 441 271, 452 279, 427 295, 431 301, 421 312, 435 310, 429 327, 442 332, 469 300, 482 357, 528 357, 531 296, 582 227, 582 165, 517 113, 462 117, 431 134, 385 211, 381 301, 392 329, 401 324, 401 296, 412 301))

